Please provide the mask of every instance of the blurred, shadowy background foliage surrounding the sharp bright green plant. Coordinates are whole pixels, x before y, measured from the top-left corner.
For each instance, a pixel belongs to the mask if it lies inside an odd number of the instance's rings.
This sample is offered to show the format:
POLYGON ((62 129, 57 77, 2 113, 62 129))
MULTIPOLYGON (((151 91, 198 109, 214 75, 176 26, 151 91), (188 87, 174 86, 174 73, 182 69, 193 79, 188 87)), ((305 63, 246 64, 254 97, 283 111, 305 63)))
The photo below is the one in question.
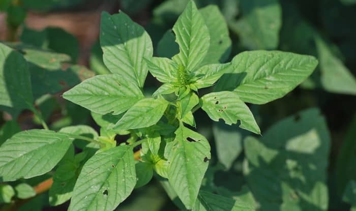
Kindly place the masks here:
MULTIPOLYGON (((35 105, 51 129, 87 124, 98 130, 90 112, 61 95, 86 78, 109 73, 98 41, 101 12, 129 14, 149 32, 155 55, 168 57, 177 51, 170 29, 187 2, 0 0, 0 39, 24 55, 35 105)), ((220 61, 257 49, 310 54, 319 60, 312 76, 293 92, 251 106, 262 136, 213 123, 196 112, 196 130, 212 145, 202 190, 248 201, 259 210, 356 210, 356 1, 195 2, 206 13, 206 22, 221 20, 208 24, 214 35, 210 52, 223 52, 220 61)), ((149 76, 145 87, 152 94, 159 85, 149 76)), ((39 119, 27 110, 0 110, 0 144, 20 130, 40 128, 39 119)), ((80 152, 80 147, 75 150, 80 152)), ((48 193, 34 197, 31 187, 52 174, 0 184, 2 209, 66 209, 68 203, 50 207, 48 193), (22 206, 11 206, 19 199, 24 199, 22 206)), ((184 209, 167 181, 156 178, 135 189, 118 209, 184 209)))

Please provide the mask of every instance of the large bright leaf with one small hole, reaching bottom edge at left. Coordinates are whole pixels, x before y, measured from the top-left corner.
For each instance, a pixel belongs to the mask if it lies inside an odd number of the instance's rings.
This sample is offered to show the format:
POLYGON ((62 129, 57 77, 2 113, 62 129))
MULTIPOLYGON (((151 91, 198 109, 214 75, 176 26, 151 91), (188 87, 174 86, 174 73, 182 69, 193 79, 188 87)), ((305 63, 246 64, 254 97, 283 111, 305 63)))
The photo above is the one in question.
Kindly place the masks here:
POLYGON ((84 164, 68 210, 113 210, 136 185, 132 147, 116 146, 84 164))

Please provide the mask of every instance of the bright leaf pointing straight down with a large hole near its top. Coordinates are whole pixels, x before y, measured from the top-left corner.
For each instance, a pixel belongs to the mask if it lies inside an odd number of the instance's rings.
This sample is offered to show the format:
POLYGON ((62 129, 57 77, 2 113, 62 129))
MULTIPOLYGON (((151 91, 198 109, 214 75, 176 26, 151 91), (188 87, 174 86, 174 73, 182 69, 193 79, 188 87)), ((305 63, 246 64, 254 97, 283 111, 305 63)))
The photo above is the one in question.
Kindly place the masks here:
POLYGON ((209 165, 210 145, 204 136, 182 123, 175 135, 175 145, 168 159, 168 180, 187 209, 191 209, 209 165))

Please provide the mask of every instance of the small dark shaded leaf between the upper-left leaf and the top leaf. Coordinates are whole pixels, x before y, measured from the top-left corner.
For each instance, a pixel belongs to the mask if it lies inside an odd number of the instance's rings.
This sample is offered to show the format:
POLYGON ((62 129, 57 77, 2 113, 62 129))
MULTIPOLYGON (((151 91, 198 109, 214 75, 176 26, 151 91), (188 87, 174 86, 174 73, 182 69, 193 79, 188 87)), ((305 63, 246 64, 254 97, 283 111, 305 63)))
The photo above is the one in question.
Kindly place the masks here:
POLYGON ((157 52, 160 57, 171 58, 179 53, 179 45, 175 42, 172 29, 164 33, 162 39, 157 44, 157 52))

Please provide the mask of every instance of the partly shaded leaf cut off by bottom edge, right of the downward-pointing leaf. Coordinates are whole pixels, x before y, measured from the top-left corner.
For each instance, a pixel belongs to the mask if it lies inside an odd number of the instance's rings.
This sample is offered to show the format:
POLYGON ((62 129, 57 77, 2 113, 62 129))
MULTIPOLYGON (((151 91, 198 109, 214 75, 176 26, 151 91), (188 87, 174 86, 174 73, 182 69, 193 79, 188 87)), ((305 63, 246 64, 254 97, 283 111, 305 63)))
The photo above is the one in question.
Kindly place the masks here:
POLYGON ((255 209, 242 201, 237 201, 224 196, 219 196, 206 191, 199 191, 193 211, 254 211, 255 209))

